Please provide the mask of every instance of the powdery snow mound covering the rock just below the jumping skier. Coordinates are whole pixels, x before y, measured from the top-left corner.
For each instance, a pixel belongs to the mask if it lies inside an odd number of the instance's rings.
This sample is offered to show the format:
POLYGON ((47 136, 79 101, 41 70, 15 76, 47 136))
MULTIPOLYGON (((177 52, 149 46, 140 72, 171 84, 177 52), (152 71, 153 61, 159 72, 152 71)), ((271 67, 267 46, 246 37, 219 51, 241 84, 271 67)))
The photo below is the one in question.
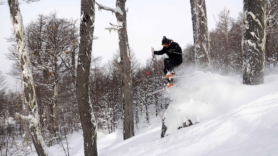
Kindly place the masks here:
POLYGON ((163 116, 164 125, 167 127, 165 136, 185 123, 188 125, 188 120, 193 124, 211 120, 246 104, 246 101, 254 97, 263 96, 258 90, 268 88, 268 91, 276 92, 271 85, 243 85, 242 78, 202 71, 196 71, 192 77, 180 79, 179 83, 183 84, 183 87, 170 91, 173 102, 163 116))

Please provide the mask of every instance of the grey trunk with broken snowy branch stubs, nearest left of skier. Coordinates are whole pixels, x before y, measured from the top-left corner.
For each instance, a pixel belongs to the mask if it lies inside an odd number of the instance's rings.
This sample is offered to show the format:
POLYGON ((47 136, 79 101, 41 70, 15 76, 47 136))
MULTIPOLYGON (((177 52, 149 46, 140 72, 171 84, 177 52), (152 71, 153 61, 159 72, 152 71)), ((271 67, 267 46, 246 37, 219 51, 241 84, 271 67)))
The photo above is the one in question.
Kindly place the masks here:
POLYGON ((131 57, 128 45, 125 0, 117 0, 116 6, 120 7, 121 13, 116 12, 118 23, 122 23, 119 29, 119 47, 120 47, 120 70, 122 90, 124 97, 124 140, 134 136, 133 123, 133 84, 131 80, 131 57))

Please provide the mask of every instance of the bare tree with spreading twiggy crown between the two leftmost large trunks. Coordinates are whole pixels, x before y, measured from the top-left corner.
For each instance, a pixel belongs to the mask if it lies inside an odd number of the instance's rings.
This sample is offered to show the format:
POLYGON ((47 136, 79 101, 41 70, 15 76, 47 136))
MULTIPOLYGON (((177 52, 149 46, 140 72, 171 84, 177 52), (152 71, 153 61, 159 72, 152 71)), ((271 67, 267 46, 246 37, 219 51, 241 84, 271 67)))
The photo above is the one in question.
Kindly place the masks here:
POLYGON ((49 15, 40 14, 27 25, 32 67, 41 75, 37 76, 36 82, 46 90, 51 138, 55 138, 59 131, 58 106, 61 82, 70 77, 69 70, 74 76, 72 69, 75 69, 75 62, 71 63, 73 61, 71 57, 75 60, 73 53, 77 47, 75 43, 78 37, 77 30, 72 25, 71 19, 58 18, 56 12, 51 12, 49 15))

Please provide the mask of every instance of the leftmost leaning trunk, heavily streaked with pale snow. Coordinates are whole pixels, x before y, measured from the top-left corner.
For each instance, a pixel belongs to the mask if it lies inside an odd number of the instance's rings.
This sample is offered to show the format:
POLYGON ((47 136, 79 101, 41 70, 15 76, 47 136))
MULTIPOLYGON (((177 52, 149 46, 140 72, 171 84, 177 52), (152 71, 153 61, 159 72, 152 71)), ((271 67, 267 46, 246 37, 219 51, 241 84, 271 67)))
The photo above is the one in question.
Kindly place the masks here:
POLYGON ((29 110, 28 117, 21 117, 28 119, 29 121, 30 133, 37 154, 40 156, 47 156, 49 152, 41 135, 36 92, 33 84, 32 72, 30 69, 28 46, 23 27, 23 20, 19 9, 19 3, 18 0, 8 0, 8 4, 10 7, 11 22, 16 36, 17 50, 19 51, 19 65, 22 69, 21 86, 24 95, 24 101, 27 104, 29 110))

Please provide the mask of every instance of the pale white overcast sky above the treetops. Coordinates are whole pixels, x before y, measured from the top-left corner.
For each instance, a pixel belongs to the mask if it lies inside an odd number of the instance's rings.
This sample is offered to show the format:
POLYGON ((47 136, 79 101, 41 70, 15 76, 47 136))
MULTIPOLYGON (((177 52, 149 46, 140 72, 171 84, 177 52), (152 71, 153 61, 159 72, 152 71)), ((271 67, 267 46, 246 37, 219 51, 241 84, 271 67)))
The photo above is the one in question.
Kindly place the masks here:
MULTIPOLYGON (((96 1, 99 4, 111 8, 116 7, 116 0, 96 1)), ((93 55, 103 56, 103 62, 107 62, 119 47, 118 34, 104 30, 111 27, 110 23, 117 23, 115 14, 111 11, 95 11, 94 36, 99 40, 93 42, 93 55)), ((136 57, 145 62, 151 56, 151 47, 154 50, 162 48, 163 36, 173 39, 184 48, 187 43, 193 43, 193 30, 189 0, 127 0, 127 28, 129 46, 133 48, 136 57)), ((237 17, 242 11, 242 0, 206 0, 208 29, 215 27, 213 14, 217 14, 224 6, 230 9, 230 17, 237 17)), ((31 4, 20 5, 24 26, 38 14, 48 14, 57 11, 59 17, 80 18, 80 0, 41 0, 31 4)), ((11 20, 8 5, 0 5, 0 70, 6 73, 10 69, 11 61, 6 60, 5 53, 9 43, 6 39, 11 35, 11 20)), ((7 77, 10 87, 15 85, 15 80, 7 77)))

